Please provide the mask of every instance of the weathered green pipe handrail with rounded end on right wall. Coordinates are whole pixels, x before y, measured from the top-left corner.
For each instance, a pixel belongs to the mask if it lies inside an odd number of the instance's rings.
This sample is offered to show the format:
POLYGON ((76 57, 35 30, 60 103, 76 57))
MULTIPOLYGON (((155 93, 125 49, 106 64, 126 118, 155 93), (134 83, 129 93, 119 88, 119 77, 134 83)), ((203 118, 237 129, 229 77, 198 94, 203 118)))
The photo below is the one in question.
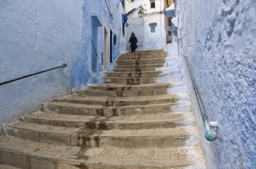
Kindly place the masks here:
POLYGON ((189 75, 190 75, 193 87, 195 89, 196 99, 198 101, 200 112, 202 114, 202 119, 204 121, 204 126, 205 126, 205 130, 206 130, 206 133, 204 136, 205 136, 206 140, 212 142, 212 141, 216 140, 217 133, 214 130, 212 130, 212 126, 210 124, 211 122, 209 122, 208 116, 205 112, 204 104, 202 103, 202 99, 200 97, 198 88, 196 86, 195 78, 193 76, 193 73, 192 73, 189 63, 188 63, 188 57, 186 55, 184 55, 184 57, 185 57, 185 60, 186 60, 187 66, 188 66, 188 71, 189 71, 189 75))

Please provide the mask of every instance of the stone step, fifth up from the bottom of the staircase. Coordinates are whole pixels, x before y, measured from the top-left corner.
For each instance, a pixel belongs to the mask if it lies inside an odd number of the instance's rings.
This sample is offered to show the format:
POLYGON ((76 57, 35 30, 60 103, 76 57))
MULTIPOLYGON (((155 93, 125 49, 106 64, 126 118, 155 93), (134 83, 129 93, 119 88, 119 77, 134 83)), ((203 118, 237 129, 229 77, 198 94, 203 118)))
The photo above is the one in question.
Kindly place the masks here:
POLYGON ((120 107, 129 105, 148 105, 158 103, 182 103, 188 102, 186 93, 164 94, 158 96, 136 96, 136 97, 106 97, 106 96, 76 96, 67 95, 55 98, 54 101, 77 103, 83 105, 100 105, 106 107, 120 107))

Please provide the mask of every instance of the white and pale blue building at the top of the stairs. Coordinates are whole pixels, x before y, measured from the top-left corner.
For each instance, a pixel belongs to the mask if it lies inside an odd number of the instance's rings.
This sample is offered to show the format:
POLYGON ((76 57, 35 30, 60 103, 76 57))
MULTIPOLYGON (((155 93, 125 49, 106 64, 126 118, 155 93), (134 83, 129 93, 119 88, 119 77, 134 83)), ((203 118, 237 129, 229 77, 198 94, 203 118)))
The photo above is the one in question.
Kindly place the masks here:
POLYGON ((134 32, 138 40, 137 50, 154 50, 166 46, 169 26, 164 16, 166 0, 127 0, 126 49, 131 51, 129 38, 134 32), (141 16, 139 16, 139 12, 141 16))

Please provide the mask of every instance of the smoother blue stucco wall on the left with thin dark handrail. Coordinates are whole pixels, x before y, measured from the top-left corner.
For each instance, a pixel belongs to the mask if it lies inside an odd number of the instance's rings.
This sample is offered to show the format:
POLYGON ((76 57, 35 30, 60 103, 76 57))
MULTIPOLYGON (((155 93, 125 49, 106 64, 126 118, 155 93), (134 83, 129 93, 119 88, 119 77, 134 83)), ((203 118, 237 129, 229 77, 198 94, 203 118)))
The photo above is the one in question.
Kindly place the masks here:
MULTIPOLYGON (((97 70, 104 71, 104 26, 116 34, 113 58, 121 48, 123 11, 119 1, 0 1, 0 82, 46 70, 62 63, 66 68, 0 86, 0 129, 3 123, 15 121, 41 107, 54 96, 69 94, 88 82, 100 80, 92 73, 91 16, 96 15, 102 27, 98 29, 97 70), (116 10, 118 6, 118 10, 116 10)), ((109 34, 108 34, 109 36, 109 34)), ((109 43, 109 37, 108 37, 109 43)), ((0 132, 1 133, 1 132, 0 132)))

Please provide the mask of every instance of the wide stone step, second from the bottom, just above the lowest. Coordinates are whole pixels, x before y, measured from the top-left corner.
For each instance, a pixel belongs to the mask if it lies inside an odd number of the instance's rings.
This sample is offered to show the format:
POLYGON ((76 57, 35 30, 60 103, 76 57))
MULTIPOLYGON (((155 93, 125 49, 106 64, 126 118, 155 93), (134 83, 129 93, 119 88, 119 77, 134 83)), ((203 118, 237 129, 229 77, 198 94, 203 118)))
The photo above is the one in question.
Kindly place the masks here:
POLYGON ((80 129, 47 124, 13 122, 4 127, 7 135, 35 142, 86 147, 180 147, 198 144, 195 126, 156 129, 80 129))

